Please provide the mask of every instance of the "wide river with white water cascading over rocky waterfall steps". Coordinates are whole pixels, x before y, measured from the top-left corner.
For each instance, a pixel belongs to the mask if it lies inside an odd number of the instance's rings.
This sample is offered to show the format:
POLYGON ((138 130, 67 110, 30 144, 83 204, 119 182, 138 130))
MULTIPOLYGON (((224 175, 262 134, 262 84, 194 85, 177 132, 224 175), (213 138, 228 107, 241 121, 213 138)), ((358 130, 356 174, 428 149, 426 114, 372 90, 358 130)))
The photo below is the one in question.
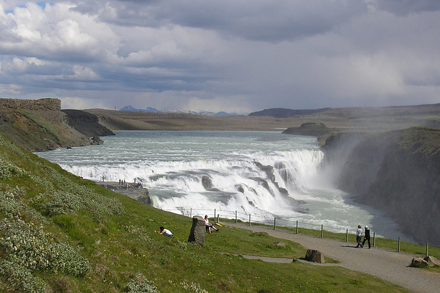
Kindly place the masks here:
MULTIPOLYGON (((91 180, 142 182, 153 206, 238 211, 344 231, 358 223, 384 234, 395 225, 352 204, 319 172, 316 137, 278 132, 119 131, 104 145, 38 153, 91 180), (299 201, 298 201, 299 200, 299 201)), ((314 228, 314 227, 311 227, 314 228)))

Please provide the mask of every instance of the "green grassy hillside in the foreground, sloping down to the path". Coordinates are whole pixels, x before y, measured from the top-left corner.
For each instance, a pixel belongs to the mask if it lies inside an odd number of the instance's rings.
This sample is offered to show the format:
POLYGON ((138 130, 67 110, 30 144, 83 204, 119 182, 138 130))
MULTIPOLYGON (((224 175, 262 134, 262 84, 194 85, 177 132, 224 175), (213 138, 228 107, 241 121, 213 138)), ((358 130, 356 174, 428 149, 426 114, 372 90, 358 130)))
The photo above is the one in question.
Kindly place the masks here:
POLYGON ((65 172, 0 137, 1 292, 404 292, 366 274, 237 254, 300 258, 293 242, 192 220, 65 172), (175 237, 154 233, 166 226, 175 237))

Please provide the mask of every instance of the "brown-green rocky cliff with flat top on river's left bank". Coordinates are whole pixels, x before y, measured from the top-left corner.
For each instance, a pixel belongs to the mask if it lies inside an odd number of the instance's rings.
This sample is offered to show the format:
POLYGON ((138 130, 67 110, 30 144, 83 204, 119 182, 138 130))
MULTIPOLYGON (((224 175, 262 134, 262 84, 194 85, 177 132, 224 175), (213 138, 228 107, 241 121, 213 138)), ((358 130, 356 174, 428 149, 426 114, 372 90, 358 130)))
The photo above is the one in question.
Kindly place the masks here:
POLYGON ((83 111, 67 115, 59 99, 0 99, 0 134, 32 152, 102 143, 96 136, 113 132, 97 121, 83 111))

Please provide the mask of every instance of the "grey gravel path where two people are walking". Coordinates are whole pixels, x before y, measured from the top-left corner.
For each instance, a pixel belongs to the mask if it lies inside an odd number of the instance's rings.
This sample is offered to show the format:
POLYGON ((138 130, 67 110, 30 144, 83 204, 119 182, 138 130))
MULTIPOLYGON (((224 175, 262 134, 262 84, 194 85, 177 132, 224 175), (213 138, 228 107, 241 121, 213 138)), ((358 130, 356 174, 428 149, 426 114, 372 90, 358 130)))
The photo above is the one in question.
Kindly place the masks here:
MULTIPOLYGON (((340 263, 329 263, 349 270, 364 272, 384 281, 400 285, 412 292, 440 292, 440 273, 409 267, 415 255, 397 253, 384 248, 355 248, 356 244, 341 242, 338 239, 318 238, 309 235, 295 234, 281 229, 274 230, 265 226, 248 226, 245 224, 227 224, 230 227, 244 228, 252 232, 265 232, 280 239, 299 243, 306 249, 320 250, 324 257, 330 257, 340 263)), ((251 258, 249 256, 246 256, 251 258)), ((253 257, 252 257, 253 258, 253 257)), ((263 261, 276 261, 268 257, 263 261)), ((280 259, 279 262, 285 262, 280 259)), ((291 260, 292 261, 292 260, 291 260)))

